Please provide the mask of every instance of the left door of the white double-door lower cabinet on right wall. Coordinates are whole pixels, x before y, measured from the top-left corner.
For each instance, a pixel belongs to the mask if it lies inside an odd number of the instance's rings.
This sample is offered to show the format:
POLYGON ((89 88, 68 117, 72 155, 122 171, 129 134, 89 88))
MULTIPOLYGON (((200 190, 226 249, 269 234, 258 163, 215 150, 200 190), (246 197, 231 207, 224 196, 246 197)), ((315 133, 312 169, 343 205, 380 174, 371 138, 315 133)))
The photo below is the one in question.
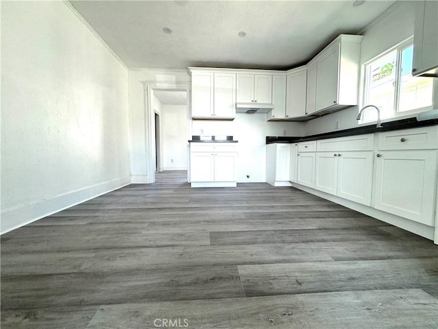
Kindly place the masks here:
POLYGON ((337 154, 318 152, 315 160, 315 188, 336 195, 337 191, 337 154))

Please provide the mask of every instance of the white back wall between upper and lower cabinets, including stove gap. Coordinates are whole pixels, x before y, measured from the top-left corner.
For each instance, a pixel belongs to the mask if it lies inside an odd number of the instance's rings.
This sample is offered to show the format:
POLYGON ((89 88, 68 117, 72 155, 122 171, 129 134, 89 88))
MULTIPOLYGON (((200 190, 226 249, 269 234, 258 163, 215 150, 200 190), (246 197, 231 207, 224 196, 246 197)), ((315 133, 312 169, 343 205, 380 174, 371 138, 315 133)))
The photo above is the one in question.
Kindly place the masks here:
POLYGON ((303 136, 303 128, 298 122, 266 121, 266 114, 257 113, 237 113, 233 121, 192 121, 194 135, 229 135, 239 141, 237 182, 266 182, 266 136, 303 136))

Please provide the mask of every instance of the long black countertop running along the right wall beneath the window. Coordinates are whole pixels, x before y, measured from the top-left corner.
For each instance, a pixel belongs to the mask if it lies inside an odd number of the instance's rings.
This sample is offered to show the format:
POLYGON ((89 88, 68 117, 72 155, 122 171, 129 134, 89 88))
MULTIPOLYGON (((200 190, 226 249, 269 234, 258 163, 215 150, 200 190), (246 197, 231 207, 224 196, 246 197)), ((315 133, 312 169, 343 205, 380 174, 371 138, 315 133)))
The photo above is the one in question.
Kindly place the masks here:
POLYGON ((389 132, 391 130, 402 130, 416 127, 426 127, 428 125, 438 125, 438 119, 430 119, 426 121, 417 121, 416 118, 401 119, 382 123, 381 128, 377 128, 376 124, 363 125, 345 130, 337 130, 335 132, 326 132, 324 134, 315 134, 305 137, 296 136, 266 136, 266 144, 272 143, 297 143, 305 141, 316 141, 318 139, 346 137, 361 134, 372 134, 374 132, 389 132))

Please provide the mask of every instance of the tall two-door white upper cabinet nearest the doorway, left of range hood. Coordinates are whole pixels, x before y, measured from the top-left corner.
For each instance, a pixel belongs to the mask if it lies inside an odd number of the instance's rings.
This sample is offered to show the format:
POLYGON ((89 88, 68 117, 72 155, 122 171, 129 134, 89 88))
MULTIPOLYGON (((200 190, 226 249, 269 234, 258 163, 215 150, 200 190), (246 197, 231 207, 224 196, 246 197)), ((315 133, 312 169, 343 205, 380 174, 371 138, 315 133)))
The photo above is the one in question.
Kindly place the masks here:
POLYGON ((235 73, 192 70, 192 118, 235 118, 235 73))

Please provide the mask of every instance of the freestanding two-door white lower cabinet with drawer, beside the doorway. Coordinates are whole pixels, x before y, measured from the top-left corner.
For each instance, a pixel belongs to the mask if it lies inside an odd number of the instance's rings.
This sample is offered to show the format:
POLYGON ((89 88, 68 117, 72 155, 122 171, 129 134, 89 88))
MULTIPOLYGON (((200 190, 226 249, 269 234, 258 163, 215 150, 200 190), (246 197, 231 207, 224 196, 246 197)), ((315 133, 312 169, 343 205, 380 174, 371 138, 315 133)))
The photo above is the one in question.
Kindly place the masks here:
POLYGON ((192 187, 237 185, 237 151, 234 145, 200 143, 190 147, 192 187))

